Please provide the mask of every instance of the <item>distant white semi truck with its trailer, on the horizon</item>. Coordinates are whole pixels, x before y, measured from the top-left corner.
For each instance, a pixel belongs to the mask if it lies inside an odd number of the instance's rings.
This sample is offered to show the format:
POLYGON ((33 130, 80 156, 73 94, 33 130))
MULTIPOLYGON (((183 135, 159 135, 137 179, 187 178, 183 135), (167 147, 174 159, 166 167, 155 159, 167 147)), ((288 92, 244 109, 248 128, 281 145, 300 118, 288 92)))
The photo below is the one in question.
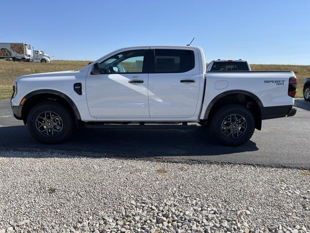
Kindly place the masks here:
POLYGON ((14 62, 54 62, 53 57, 42 50, 33 50, 31 57, 31 45, 26 43, 0 43, 0 59, 14 62))

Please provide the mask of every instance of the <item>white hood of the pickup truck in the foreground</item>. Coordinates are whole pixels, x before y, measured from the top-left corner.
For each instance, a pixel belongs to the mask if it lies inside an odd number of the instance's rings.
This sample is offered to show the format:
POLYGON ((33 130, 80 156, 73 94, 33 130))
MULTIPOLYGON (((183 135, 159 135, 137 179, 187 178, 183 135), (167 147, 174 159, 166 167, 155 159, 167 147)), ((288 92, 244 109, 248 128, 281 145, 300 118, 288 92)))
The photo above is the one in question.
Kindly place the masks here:
POLYGON ((75 79, 79 70, 57 71, 39 74, 23 75, 16 79, 16 82, 30 82, 30 81, 61 81, 68 79, 75 79))

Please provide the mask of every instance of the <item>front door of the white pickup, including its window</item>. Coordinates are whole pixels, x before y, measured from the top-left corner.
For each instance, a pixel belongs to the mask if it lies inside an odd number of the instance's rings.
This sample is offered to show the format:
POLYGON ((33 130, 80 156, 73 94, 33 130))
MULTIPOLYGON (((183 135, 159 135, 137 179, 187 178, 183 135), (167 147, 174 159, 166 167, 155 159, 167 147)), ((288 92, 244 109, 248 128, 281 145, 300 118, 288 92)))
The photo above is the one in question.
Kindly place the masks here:
POLYGON ((88 74, 86 96, 91 116, 150 117, 145 48, 125 50, 100 62, 101 74, 88 74))

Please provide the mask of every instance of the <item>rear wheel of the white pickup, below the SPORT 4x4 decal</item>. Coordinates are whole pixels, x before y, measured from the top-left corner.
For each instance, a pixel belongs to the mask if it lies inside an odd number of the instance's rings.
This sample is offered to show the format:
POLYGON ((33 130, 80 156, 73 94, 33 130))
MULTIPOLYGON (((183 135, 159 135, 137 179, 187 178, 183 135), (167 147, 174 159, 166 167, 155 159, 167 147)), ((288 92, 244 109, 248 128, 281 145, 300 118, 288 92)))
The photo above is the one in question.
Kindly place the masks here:
POLYGON ((252 137, 255 120, 244 106, 227 104, 212 116, 210 130, 222 145, 240 146, 252 137))

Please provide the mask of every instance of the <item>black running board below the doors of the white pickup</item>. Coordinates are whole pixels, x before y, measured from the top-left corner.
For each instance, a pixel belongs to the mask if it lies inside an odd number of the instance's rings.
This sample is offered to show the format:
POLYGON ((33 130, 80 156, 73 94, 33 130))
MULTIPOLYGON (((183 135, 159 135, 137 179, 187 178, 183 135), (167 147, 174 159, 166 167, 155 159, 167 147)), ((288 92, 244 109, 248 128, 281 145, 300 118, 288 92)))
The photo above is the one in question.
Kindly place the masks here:
POLYGON ((121 125, 84 124, 85 129, 194 129, 197 125, 121 125))

